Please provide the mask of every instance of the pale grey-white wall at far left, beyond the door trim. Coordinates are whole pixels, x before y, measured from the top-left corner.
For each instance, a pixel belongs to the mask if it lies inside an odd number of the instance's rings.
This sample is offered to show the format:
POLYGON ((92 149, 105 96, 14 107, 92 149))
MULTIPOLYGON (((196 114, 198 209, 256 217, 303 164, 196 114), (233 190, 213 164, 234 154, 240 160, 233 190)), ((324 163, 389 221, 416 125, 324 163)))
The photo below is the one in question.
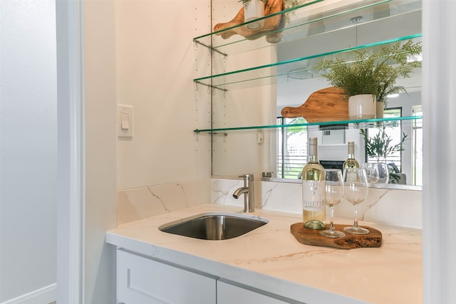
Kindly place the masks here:
POLYGON ((57 246, 55 1, 2 0, 0 16, 0 303, 50 303, 57 246))

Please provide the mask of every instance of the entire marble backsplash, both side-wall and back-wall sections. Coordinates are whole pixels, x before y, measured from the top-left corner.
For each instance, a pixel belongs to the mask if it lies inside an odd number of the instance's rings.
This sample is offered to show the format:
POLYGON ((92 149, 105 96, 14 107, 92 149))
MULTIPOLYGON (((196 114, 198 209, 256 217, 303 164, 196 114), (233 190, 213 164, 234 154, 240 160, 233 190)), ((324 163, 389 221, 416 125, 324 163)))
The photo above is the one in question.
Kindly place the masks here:
MULTIPOLYGON (((255 181, 257 208, 301 214, 301 184, 255 181)), ((198 179, 118 191, 118 225, 200 204, 226 204, 244 208, 244 197, 234 199, 239 179, 198 179), (210 193, 207 189, 210 187, 210 193)), ((368 199, 359 205, 359 220, 422 227, 421 191, 370 188, 368 199)), ((353 218, 353 206, 342 201, 336 218, 353 218)))

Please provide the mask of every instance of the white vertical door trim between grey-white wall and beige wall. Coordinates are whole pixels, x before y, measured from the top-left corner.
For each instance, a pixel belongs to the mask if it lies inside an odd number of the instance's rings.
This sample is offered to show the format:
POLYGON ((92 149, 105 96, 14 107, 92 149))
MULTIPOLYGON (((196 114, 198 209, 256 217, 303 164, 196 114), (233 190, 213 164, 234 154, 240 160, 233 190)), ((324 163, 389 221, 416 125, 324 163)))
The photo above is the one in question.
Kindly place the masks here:
POLYGON ((83 137, 80 6, 56 1, 57 36, 57 300, 81 303, 83 137))

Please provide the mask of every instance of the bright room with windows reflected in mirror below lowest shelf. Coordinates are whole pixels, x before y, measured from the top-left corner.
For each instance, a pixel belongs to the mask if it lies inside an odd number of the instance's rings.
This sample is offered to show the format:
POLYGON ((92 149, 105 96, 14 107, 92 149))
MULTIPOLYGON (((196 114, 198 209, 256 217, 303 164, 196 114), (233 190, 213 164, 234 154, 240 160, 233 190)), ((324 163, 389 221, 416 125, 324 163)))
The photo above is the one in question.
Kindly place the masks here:
MULTIPOLYGON (((413 115, 420 117, 421 112, 418 110, 415 110, 413 115)), ((385 118, 403 116, 401 108, 385 110, 385 118)), ((301 117, 277 118, 277 125, 299 123, 304 123, 301 117)), ((284 128, 281 132, 277 132, 277 177, 282 179, 299 178, 301 169, 307 162, 306 140, 308 137, 318 138, 318 159, 323 167, 341 169, 343 162, 348 157, 348 142, 355 143, 355 159, 359 164, 378 162, 377 157, 369 157, 366 154, 365 141, 361 131, 366 132, 367 137, 373 138, 383 130, 389 147, 399 145, 399 149, 385 155, 385 159, 380 158, 380 162, 387 163, 390 169, 389 184, 420 186, 423 181, 421 119, 374 122, 368 128, 360 128, 359 125, 351 123, 284 128), (403 140, 402 144, 401 140, 403 140)), ((388 147, 385 147, 385 150, 388 151, 388 147)))

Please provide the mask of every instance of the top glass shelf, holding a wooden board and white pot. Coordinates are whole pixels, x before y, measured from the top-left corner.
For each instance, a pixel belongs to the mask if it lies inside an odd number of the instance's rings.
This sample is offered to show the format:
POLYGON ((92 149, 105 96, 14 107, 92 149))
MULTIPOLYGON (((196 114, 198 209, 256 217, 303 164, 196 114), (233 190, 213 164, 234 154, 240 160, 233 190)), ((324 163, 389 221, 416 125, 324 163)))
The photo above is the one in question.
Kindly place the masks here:
MULTIPOLYGON (((237 34, 231 35, 237 28, 241 28, 247 23, 257 21, 254 20, 231 26, 221 31, 207 33, 195 37, 193 40, 196 43, 211 48, 219 53, 230 55, 306 38, 311 36, 312 33, 315 33, 316 28, 318 28, 318 33, 325 33, 421 9, 421 1, 366 0, 354 1, 354 3, 353 1, 351 2, 351 4, 347 4, 350 3, 350 1, 336 1, 336 3, 323 0, 307 1, 299 6, 285 9, 284 11, 279 11, 275 14, 261 18, 266 20, 274 16, 285 14, 287 22, 284 28, 276 31, 268 33, 260 32, 249 38, 244 38, 244 36, 237 34), (356 18, 357 16, 363 16, 363 18, 362 20, 357 19, 356 22, 354 22, 353 20, 355 19, 353 18, 356 18), (312 30, 309 31, 309 28, 312 30), (270 33, 281 33, 283 36, 282 41, 280 43, 267 42, 263 37, 270 33), (227 36, 229 36, 229 38, 226 38, 227 36)), ((239 4, 239 9, 242 8, 241 5, 242 4, 239 4)), ((223 23, 228 21, 229 20, 218 22, 223 23)))

